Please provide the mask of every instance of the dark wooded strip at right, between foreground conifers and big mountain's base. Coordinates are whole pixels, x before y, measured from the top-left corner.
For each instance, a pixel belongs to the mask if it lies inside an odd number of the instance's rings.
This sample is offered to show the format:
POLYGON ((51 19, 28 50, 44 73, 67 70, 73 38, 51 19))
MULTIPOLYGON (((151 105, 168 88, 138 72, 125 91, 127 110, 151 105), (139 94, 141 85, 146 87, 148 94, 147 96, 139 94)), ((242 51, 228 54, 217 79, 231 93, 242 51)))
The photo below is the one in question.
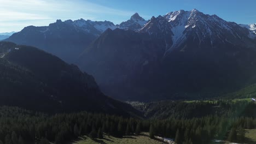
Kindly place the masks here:
MULTIPOLYGON (((241 100, 235 103, 231 100, 213 101, 158 101, 146 104, 135 105, 145 112, 146 118, 167 119, 167 118, 201 118, 209 115, 227 117, 256 117, 256 104, 241 100)), ((248 119, 247 128, 253 126, 251 119, 248 119)))

